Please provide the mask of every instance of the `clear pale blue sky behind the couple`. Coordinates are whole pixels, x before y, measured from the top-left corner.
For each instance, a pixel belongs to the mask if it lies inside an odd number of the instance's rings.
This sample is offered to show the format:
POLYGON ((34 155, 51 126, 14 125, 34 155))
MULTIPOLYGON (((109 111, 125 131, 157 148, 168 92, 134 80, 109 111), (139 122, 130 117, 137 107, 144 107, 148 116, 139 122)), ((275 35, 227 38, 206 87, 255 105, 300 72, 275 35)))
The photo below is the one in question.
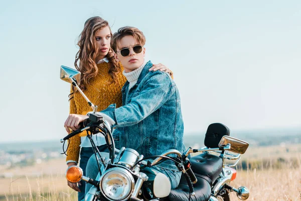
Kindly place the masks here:
POLYGON ((135 26, 174 72, 185 133, 301 127, 300 1, 6 1, 0 11, 1 141, 60 139, 77 37, 89 17, 135 26))

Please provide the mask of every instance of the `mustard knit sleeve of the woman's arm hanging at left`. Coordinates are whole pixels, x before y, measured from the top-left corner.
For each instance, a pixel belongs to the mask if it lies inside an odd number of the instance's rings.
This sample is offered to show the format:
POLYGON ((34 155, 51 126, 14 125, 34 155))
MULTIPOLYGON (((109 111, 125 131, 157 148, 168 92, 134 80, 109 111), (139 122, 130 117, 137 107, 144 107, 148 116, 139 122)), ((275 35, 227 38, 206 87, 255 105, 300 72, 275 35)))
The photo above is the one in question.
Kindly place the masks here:
MULTIPOLYGON (((73 93, 73 88, 71 85, 71 93, 73 93)), ((74 95, 74 94, 73 94, 74 95)), ((70 100, 70 114, 77 114, 76 105, 74 102, 74 98, 70 100)), ((80 152, 80 136, 76 135, 70 138, 67 150, 66 161, 76 161, 78 163, 79 152, 80 152)))

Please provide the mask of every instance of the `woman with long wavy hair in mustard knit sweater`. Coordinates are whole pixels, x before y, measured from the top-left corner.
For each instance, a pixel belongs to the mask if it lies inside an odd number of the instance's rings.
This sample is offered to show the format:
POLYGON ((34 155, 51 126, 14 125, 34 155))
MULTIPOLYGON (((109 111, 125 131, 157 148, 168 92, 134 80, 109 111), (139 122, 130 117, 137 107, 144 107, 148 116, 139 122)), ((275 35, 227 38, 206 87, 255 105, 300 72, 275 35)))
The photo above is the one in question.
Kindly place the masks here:
MULTIPOLYGON (((111 30, 108 22, 100 17, 89 18, 85 22, 84 29, 80 34, 78 41, 79 51, 76 54, 74 65, 81 72, 80 87, 85 92, 90 101, 98 106, 98 111, 106 109, 110 104, 115 103, 116 107, 122 105, 121 88, 126 78, 122 74, 123 67, 115 59, 114 52, 110 46, 111 30), (77 62, 79 60, 79 66, 77 62)), ((171 73, 171 71, 162 64, 152 67, 152 70, 162 70, 171 73)), ((75 116, 86 115, 91 112, 90 106, 81 94, 71 88, 70 97, 70 115, 65 122, 65 129, 70 133, 69 129, 78 129, 78 122, 75 116), (71 118, 73 117, 73 118, 71 118)), ((106 149, 105 140, 101 134, 92 136, 99 151, 106 149)), ((83 169, 84 175, 86 171, 87 161, 93 154, 91 143, 83 132, 70 139, 67 151, 67 165, 77 165, 80 155, 80 167, 83 169), (81 147, 81 148, 80 148, 81 147)), ((68 185, 79 191, 78 199, 84 198, 85 182, 70 183, 68 185)))

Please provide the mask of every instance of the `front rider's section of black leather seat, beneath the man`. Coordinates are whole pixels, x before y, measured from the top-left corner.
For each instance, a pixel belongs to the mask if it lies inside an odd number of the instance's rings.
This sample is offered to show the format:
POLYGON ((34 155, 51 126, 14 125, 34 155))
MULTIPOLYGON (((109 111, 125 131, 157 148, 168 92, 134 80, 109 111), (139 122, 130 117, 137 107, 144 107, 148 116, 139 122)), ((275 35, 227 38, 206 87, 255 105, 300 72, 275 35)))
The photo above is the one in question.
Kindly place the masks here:
MULTIPOLYGON (((209 182, 199 176, 196 176, 198 182, 195 183, 194 191, 195 196, 191 196, 191 201, 207 201, 211 196, 211 186, 209 182)), ((187 185, 185 177, 182 175, 179 186, 176 189, 172 189, 170 195, 168 196, 170 201, 188 201, 189 200, 189 187, 187 185)))

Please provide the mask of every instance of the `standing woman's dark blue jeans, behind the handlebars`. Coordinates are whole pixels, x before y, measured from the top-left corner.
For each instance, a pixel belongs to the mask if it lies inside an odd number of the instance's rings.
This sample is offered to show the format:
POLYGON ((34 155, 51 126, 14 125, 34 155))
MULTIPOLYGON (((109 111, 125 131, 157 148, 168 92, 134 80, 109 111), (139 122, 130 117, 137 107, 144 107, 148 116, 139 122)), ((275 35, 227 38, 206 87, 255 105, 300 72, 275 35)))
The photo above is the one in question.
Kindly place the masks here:
MULTIPOLYGON (((101 145, 97 147, 99 151, 104 151, 106 149, 106 145, 101 145)), ((83 175, 86 176, 86 166, 89 158, 94 155, 92 147, 81 147, 80 149, 80 162, 79 167, 83 170, 83 175)), ((78 192, 78 200, 82 200, 85 198, 85 181, 80 181, 81 185, 79 185, 79 189, 81 192, 78 192)))

